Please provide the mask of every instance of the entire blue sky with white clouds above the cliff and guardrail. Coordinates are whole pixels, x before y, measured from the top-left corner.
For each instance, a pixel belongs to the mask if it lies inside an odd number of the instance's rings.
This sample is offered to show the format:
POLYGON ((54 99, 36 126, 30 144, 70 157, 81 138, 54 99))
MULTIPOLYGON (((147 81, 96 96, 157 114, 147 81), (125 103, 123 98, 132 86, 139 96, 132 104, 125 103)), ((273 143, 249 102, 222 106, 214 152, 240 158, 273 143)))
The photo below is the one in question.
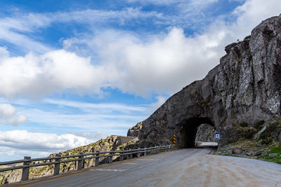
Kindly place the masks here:
POLYGON ((280 0, 1 0, 0 162, 126 135, 280 0))

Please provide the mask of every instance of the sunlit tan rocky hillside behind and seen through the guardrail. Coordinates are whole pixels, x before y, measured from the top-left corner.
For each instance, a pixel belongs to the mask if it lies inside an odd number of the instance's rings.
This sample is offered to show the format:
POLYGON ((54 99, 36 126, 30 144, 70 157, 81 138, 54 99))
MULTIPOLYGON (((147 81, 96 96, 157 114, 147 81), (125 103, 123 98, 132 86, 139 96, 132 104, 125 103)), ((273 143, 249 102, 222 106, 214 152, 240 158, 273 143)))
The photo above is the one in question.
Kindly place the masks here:
MULTIPOLYGON (((106 139, 100 139, 99 141, 86 146, 80 146, 67 151, 62 151, 59 154, 77 155, 79 153, 93 153, 96 151, 119 151, 123 149, 133 148, 136 142, 138 142, 137 137, 120 137, 112 135, 110 137, 107 137, 106 139)), ((54 157, 56 154, 58 153, 53 153, 49 155, 49 157, 54 157)), ((117 158, 113 158, 113 160, 115 159, 117 158)), ((107 162, 107 158, 100 159, 100 164, 105 162, 107 162)), ((85 160, 84 162, 84 167, 92 167, 93 165, 95 165, 94 159, 85 160)), ((77 169, 77 162, 67 162, 60 165, 60 173, 69 172, 75 169, 77 169)), ((0 173, 0 184, 20 181, 21 174, 22 169, 16 169, 13 172, 2 172, 0 173)), ((30 168, 30 179, 48 175, 53 175, 53 165, 30 168)))

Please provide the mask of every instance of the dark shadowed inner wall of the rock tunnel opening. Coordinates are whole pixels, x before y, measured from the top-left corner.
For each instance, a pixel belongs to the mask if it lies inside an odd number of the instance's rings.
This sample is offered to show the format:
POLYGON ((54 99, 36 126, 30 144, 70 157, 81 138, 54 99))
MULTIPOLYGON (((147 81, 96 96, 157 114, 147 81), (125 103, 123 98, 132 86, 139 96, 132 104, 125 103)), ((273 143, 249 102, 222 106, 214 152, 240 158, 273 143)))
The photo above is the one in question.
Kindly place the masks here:
MULTIPOLYGON (((180 148, 190 148, 195 146, 196 137, 198 138, 197 130, 202 124, 211 125, 214 124, 209 118, 189 118, 179 124, 180 127, 180 137, 178 139, 178 146, 180 148)), ((199 141, 199 139, 197 139, 199 141)))

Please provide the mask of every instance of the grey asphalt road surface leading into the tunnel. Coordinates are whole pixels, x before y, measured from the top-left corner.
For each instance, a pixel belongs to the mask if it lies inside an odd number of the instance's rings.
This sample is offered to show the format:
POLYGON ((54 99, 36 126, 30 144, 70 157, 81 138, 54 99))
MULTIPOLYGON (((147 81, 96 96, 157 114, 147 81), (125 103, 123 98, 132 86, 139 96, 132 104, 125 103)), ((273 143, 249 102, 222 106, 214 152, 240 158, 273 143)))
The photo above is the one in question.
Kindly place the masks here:
POLYGON ((210 151, 181 149, 13 186, 281 186, 281 165, 210 151))

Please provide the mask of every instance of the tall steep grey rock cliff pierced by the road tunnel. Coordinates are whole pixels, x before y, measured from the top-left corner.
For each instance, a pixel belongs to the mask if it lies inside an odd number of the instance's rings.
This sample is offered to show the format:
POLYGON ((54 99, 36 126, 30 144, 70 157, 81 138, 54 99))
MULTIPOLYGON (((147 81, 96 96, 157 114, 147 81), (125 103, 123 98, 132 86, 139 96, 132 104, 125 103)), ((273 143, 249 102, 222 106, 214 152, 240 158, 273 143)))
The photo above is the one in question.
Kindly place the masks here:
POLYGON ((177 146, 189 147, 197 127, 208 123, 228 144, 245 138, 240 124, 253 127, 280 116, 281 17, 261 22, 251 37, 226 46, 226 53, 204 79, 170 97, 129 134, 152 145, 171 144, 176 134, 177 146))

